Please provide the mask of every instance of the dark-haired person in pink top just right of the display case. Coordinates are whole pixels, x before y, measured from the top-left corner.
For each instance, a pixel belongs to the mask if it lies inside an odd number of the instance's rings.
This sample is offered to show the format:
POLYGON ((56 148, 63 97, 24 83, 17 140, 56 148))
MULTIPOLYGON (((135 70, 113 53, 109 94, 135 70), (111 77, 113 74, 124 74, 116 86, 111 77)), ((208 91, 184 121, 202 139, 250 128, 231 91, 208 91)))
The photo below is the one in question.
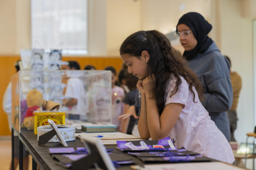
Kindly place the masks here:
POLYGON ((124 89, 116 86, 116 69, 114 67, 106 67, 105 70, 111 71, 111 94, 112 94, 112 124, 116 125, 117 131, 121 131, 121 121, 118 116, 122 115, 124 110, 124 89))

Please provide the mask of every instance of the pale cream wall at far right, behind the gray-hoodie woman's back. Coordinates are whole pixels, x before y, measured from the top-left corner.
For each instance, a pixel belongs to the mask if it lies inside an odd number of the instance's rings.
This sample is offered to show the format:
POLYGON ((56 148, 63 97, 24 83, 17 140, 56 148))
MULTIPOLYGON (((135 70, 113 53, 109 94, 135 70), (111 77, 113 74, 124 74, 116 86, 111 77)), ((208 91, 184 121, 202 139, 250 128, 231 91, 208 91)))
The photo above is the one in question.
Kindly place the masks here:
POLYGON ((235 138, 238 142, 245 142, 246 133, 254 131, 252 19, 242 17, 241 0, 221 0, 219 7, 221 53, 230 57, 231 70, 242 77, 235 138))

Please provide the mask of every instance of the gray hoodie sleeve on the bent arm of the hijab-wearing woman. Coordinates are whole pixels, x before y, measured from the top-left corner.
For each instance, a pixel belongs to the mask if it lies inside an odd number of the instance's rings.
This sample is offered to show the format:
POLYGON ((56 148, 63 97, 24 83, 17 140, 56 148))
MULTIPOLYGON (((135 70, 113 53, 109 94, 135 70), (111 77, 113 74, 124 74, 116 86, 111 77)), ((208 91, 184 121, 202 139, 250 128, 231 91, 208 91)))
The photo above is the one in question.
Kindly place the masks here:
POLYGON ((228 111, 232 106, 233 88, 229 67, 228 60, 220 55, 211 59, 208 71, 202 76, 205 82, 205 101, 202 105, 209 113, 228 111))

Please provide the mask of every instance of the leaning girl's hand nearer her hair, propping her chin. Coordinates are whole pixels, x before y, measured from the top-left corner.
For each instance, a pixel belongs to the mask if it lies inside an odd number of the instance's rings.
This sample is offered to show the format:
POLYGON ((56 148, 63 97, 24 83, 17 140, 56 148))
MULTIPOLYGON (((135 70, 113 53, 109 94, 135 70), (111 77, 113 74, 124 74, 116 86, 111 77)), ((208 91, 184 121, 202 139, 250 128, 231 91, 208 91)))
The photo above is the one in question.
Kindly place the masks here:
POLYGON ((145 91, 145 94, 148 95, 148 97, 153 97, 153 90, 156 85, 156 78, 155 75, 150 75, 147 78, 143 79, 143 88, 145 91))

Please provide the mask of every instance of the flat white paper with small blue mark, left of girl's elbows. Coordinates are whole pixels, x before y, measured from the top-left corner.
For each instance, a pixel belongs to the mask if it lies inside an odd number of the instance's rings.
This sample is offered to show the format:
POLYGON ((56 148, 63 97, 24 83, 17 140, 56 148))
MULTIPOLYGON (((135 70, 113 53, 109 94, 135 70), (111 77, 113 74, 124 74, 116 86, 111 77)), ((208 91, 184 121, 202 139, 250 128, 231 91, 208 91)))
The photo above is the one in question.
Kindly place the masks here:
POLYGON ((101 140, 116 140, 116 139, 140 139, 140 137, 132 136, 129 134, 123 134, 121 132, 102 132, 102 133, 82 133, 79 134, 80 136, 102 136, 99 137, 101 140))

